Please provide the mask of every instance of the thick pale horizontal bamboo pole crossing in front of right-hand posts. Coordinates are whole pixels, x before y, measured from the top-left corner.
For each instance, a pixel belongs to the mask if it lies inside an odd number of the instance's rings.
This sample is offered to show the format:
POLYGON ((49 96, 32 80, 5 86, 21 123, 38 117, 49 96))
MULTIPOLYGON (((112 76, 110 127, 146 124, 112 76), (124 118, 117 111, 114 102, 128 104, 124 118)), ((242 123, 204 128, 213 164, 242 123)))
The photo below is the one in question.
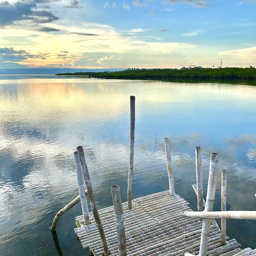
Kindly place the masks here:
POLYGON ((239 220, 256 220, 256 211, 184 212, 184 216, 207 219, 226 218, 239 220))

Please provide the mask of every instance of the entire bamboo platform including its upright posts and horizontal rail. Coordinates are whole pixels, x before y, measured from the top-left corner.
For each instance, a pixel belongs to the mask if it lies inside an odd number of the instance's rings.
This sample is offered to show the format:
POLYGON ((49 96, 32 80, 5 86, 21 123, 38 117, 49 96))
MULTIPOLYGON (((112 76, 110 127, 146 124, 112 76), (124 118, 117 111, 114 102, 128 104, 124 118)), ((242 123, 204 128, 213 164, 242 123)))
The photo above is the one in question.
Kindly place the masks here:
MULTIPOLYGON (((79 195, 54 217, 55 230, 59 217, 81 202, 82 215, 75 218, 74 229, 90 255, 113 256, 256 256, 256 249, 242 249, 236 239, 226 236, 226 219, 256 220, 256 211, 227 211, 227 170, 222 170, 221 211, 213 212, 218 173, 218 154, 210 154, 206 200, 203 198, 202 148, 196 146, 196 184, 198 212, 175 193, 169 138, 164 138, 166 167, 170 190, 132 200, 134 158, 135 97, 130 97, 130 154, 127 202, 121 200, 120 187, 111 186, 113 206, 98 210, 84 150, 78 146, 74 160, 79 195), (92 212, 88 211, 90 201, 92 212), (221 219, 219 228, 214 218, 221 219)), ((256 194, 255 194, 256 196, 256 194)))

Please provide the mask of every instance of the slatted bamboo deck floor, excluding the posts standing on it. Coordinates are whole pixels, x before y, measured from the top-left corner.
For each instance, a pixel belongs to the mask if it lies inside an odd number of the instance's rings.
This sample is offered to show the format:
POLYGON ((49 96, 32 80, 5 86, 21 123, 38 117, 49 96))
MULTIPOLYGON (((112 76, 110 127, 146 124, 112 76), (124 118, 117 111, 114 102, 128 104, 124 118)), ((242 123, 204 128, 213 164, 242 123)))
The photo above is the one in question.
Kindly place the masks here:
MULTIPOLYGON (((122 203, 125 218, 126 246, 129 256, 183 256, 185 252, 198 254, 202 221, 186 218, 185 211, 192 211, 180 196, 170 196, 170 191, 159 192, 132 200, 132 210, 122 203)), ((106 234, 110 255, 118 256, 118 240, 114 207, 99 210, 106 234)), ((77 216, 81 224, 83 216, 77 216)), ((94 255, 103 254, 102 242, 92 213, 91 224, 75 228, 84 248, 90 246, 94 255)), ((227 237, 227 244, 220 242, 220 230, 210 227, 207 255, 248 256, 256 250, 242 250, 236 239, 227 237)))

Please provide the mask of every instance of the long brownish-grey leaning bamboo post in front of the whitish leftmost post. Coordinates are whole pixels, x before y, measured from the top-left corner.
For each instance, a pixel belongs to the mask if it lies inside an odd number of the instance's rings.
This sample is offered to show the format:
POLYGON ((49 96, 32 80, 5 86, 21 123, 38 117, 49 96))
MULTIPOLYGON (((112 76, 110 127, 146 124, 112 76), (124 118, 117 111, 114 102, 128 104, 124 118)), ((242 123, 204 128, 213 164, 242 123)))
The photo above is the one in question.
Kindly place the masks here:
POLYGON ((89 196, 89 200, 90 200, 90 204, 92 207, 92 213, 96 222, 96 225, 98 227, 99 233, 100 233, 100 238, 103 244, 103 250, 104 250, 104 255, 109 255, 109 251, 108 251, 108 245, 107 245, 107 240, 106 240, 106 236, 102 227, 102 223, 100 220, 100 216, 98 213, 98 209, 97 209, 97 205, 94 199, 94 194, 93 194, 93 190, 92 190, 92 183, 90 181, 90 176, 89 176, 89 172, 88 172, 88 168, 87 168, 87 164, 86 164, 86 160, 85 160, 85 156, 84 156, 84 149, 82 146, 78 146, 76 148, 77 152, 78 152, 78 157, 80 160, 80 164, 81 164, 81 168, 82 168, 82 173, 84 176, 84 181, 86 184, 86 188, 87 188, 87 192, 88 192, 88 196, 89 196))

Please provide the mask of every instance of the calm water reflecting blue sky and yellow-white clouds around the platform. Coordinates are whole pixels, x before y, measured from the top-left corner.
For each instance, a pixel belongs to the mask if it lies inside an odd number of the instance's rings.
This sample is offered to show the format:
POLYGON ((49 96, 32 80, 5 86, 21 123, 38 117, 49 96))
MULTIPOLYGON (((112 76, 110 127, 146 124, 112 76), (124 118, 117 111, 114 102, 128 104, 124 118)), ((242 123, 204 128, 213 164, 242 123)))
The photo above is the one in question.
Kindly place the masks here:
MULTIPOLYGON (((228 210, 256 210, 256 87, 242 84, 0 76, 0 254, 57 255, 49 227, 78 194, 73 152, 83 145, 99 208, 110 185, 126 200, 129 96, 136 96, 133 194, 168 189, 163 139, 172 144, 176 193, 196 210, 194 147, 202 146, 204 195, 211 152, 228 170, 228 210)), ((63 254, 87 255, 74 206, 56 232, 63 254)), ((227 234, 256 247, 255 221, 228 220, 227 234)))

